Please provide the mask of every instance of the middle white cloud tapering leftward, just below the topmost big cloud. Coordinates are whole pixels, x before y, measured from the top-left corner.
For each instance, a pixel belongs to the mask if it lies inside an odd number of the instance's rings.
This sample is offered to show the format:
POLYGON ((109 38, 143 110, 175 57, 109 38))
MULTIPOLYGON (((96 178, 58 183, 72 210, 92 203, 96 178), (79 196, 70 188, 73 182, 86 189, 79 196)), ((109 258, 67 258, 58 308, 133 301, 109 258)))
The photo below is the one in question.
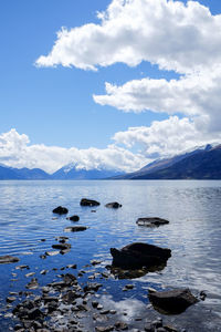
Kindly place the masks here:
POLYGON ((221 66, 204 69, 179 80, 134 80, 122 86, 106 83, 106 95, 94 95, 96 103, 125 112, 182 113, 204 120, 208 131, 220 131, 221 66))

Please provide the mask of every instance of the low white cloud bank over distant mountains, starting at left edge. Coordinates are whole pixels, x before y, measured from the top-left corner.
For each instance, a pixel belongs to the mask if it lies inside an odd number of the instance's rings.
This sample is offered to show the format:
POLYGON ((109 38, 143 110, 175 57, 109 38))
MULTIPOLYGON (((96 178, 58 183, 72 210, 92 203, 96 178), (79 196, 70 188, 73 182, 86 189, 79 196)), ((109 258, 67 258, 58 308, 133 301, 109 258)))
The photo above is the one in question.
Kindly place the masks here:
POLYGON ((49 173, 74 163, 77 168, 106 168, 135 170, 146 163, 145 156, 116 145, 104 149, 91 147, 63 148, 43 144, 31 145, 27 135, 20 135, 15 129, 0 135, 0 163, 11 167, 42 168, 49 173))

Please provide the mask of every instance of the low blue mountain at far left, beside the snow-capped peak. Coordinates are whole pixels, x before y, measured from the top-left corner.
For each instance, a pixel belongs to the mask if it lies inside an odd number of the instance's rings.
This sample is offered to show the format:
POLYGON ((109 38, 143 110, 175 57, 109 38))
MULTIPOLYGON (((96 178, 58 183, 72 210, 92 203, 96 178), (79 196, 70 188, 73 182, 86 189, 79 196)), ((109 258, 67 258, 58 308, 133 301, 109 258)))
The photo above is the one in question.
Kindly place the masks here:
POLYGON ((40 168, 13 168, 1 164, 0 179, 50 179, 50 175, 40 168))

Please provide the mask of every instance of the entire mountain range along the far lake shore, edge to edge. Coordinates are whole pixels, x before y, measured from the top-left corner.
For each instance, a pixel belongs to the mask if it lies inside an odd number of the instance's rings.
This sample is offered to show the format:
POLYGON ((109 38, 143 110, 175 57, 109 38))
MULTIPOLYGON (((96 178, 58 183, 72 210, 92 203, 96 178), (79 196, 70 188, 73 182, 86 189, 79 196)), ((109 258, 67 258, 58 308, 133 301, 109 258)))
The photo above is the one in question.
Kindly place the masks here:
POLYGON ((221 179, 221 144, 157 159, 137 172, 125 174, 105 168, 78 168, 69 164, 52 175, 40 168, 13 168, 0 165, 0 179, 221 179))

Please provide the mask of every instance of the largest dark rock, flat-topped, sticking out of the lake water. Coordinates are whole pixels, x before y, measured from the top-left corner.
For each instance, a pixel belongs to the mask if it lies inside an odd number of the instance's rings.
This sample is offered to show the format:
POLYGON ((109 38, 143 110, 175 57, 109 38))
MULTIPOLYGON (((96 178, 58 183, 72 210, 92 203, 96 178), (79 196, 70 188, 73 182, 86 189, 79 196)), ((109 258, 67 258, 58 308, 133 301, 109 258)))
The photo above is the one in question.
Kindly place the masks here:
POLYGON ((154 245, 134 242, 120 250, 110 248, 113 266, 125 269, 151 268, 165 264, 171 256, 171 250, 154 245))

